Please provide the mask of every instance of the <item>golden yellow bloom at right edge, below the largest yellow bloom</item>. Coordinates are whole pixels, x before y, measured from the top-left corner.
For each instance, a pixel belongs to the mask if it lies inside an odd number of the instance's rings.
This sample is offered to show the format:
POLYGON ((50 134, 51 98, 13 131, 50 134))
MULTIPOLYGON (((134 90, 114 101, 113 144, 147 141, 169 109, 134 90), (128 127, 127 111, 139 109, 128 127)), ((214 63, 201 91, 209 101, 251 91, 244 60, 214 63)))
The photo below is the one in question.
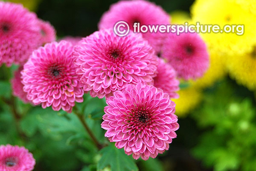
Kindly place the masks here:
POLYGON ((237 83, 256 90, 256 45, 247 54, 228 57, 227 68, 237 83))

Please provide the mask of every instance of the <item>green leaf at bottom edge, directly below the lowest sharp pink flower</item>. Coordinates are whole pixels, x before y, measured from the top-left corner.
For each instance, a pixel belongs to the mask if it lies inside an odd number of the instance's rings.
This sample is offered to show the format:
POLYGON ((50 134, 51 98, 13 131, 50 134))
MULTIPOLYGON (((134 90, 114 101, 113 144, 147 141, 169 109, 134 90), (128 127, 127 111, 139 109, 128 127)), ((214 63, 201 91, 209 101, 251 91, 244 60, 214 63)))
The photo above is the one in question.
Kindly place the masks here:
POLYGON ((102 158, 98 162, 98 170, 111 166, 112 171, 138 171, 134 159, 125 154, 123 149, 116 148, 114 143, 103 148, 100 152, 102 158))

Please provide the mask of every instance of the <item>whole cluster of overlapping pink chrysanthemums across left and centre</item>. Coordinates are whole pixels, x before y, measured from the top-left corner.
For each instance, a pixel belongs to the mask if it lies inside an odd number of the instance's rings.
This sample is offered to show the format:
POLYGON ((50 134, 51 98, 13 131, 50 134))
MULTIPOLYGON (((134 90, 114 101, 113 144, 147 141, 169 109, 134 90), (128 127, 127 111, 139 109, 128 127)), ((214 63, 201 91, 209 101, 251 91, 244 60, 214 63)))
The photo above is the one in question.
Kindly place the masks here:
POLYGON ((99 31, 55 42, 49 23, 20 5, 0 2, 0 64, 25 63, 15 72, 13 94, 43 108, 71 113, 84 93, 106 97, 105 136, 134 159, 147 160, 168 150, 176 137, 179 125, 170 99, 178 97, 177 77, 201 77, 208 54, 198 34, 130 32, 118 37, 112 27, 119 20, 131 26, 170 21, 154 3, 121 1, 102 16, 99 31))

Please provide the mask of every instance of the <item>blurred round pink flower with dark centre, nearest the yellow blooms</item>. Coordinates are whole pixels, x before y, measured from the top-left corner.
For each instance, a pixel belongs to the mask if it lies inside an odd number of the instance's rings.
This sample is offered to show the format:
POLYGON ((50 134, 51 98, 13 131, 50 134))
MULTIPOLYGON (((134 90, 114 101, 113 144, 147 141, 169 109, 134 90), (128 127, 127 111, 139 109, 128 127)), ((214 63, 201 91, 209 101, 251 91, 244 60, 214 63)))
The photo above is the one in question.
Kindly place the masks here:
POLYGON ((184 80, 202 77, 209 66, 207 46, 196 33, 169 34, 162 56, 184 80))

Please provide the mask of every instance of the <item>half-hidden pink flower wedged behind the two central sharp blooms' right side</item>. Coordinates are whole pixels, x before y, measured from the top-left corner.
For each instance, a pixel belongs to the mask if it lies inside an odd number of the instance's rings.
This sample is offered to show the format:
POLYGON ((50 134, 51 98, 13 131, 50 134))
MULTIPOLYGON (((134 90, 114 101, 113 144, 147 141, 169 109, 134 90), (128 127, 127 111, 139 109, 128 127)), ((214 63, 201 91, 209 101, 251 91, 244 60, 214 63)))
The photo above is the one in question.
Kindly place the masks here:
POLYGON ((154 77, 154 86, 160 88, 163 92, 169 94, 170 98, 178 98, 176 93, 179 88, 179 80, 177 80, 176 71, 171 65, 159 59, 157 65, 157 76, 154 77))

